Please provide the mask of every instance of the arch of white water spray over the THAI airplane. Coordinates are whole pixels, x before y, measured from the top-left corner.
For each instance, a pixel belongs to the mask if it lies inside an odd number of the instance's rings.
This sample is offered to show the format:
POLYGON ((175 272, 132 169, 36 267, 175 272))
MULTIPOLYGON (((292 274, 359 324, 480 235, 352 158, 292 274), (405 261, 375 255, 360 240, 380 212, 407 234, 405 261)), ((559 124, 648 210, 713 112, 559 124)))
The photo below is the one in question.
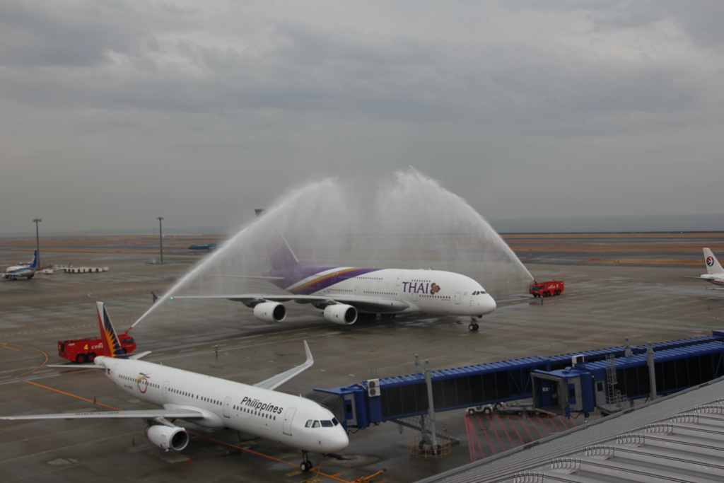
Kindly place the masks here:
POLYGON ((290 191, 194 266, 134 325, 177 303, 174 295, 284 293, 253 278, 269 270, 265 244, 277 233, 306 265, 448 270, 478 280, 494 297, 524 293, 532 280, 463 198, 409 168, 376 186, 327 178, 290 191))

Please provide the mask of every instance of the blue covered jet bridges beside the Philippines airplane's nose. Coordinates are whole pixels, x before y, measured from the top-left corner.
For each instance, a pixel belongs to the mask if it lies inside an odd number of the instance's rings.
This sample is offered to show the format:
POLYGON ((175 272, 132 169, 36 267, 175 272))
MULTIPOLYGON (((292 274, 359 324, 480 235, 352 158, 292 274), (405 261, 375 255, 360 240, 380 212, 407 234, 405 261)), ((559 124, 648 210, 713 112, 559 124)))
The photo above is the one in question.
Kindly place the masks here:
MULTIPOLYGON (((652 344, 658 395, 676 392, 724 375, 724 331, 685 340, 652 344)), ((536 408, 571 416, 607 403, 610 367, 615 388, 629 399, 649 398, 647 346, 589 350, 551 357, 528 357, 432 371, 435 411, 533 398, 536 408), (582 357, 581 357, 582 356, 582 357), (576 357, 576 364, 573 364, 576 357), (608 371, 607 371, 608 369, 608 371)), ((315 389, 308 398, 329 407, 347 427, 365 428, 428 411, 424 374, 315 389)))

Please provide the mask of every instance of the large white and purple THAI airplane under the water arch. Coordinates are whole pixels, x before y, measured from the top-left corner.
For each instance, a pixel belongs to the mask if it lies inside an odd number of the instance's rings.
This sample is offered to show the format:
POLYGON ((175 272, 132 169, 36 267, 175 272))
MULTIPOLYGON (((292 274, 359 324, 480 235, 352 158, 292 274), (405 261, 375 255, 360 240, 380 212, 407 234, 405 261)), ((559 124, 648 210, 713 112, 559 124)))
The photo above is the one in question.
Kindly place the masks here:
POLYGON ((371 269, 351 266, 304 266, 287 240, 277 233, 266 244, 271 271, 259 277, 289 294, 180 295, 171 298, 227 298, 253 308, 265 322, 282 322, 287 308, 282 302, 309 303, 324 311, 324 319, 352 325, 358 314, 425 313, 469 316, 468 328, 479 329, 476 318, 495 310, 495 301, 475 280, 442 270, 371 269))

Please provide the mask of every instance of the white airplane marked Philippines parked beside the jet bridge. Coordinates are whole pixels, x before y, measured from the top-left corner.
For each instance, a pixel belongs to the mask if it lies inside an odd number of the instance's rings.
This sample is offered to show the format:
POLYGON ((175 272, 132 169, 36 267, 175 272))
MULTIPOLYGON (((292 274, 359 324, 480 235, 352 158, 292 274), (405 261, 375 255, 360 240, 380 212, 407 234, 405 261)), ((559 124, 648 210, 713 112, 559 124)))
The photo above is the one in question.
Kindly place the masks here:
POLYGON ((347 448, 347 432, 331 411, 312 400, 274 391, 313 364, 306 341, 304 364, 249 386, 138 360, 148 352, 126 356, 104 304, 96 304, 101 337, 105 347, 111 350, 106 351, 110 352, 109 356, 96 357, 94 367, 103 369, 106 377, 134 398, 163 409, 0 416, 0 419, 142 418, 149 424, 148 439, 167 451, 186 448, 189 440, 186 429, 172 422, 185 419, 203 427, 235 429, 301 450, 303 471, 313 466, 309 452, 327 454, 347 448))

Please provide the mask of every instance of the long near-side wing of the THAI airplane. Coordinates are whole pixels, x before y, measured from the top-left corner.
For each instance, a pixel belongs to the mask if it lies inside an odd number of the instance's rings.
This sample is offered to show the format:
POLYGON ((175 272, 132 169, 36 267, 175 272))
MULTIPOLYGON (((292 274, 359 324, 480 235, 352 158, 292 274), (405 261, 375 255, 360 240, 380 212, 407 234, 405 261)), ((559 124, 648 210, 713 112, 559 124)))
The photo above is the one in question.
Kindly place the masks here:
POLYGON ((296 303, 315 303, 315 305, 326 306, 334 303, 346 303, 354 308, 358 308, 363 311, 378 312, 378 313, 394 313, 404 311, 405 308, 409 308, 410 304, 405 301, 387 299, 387 298, 375 298, 375 297, 349 297, 345 295, 294 295, 290 294, 240 294, 240 295, 174 295, 172 299, 176 298, 208 298, 208 299, 220 299, 226 298, 230 301, 241 302, 245 306, 252 307, 256 303, 274 301, 274 302, 288 302, 295 301, 296 303))

